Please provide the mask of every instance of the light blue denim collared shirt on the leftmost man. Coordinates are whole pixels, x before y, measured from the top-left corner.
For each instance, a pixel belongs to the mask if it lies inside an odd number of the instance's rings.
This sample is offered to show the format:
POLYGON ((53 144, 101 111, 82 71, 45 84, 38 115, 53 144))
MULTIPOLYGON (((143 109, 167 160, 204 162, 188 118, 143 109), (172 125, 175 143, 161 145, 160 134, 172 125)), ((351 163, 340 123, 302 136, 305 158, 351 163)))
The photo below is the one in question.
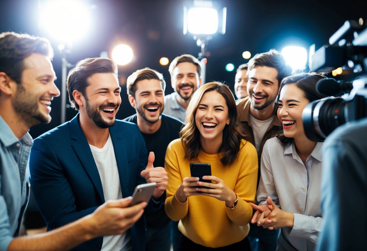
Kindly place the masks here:
POLYGON ((29 199, 27 162, 32 137, 27 132, 20 140, 0 116, 0 251, 6 251, 19 235, 29 199))

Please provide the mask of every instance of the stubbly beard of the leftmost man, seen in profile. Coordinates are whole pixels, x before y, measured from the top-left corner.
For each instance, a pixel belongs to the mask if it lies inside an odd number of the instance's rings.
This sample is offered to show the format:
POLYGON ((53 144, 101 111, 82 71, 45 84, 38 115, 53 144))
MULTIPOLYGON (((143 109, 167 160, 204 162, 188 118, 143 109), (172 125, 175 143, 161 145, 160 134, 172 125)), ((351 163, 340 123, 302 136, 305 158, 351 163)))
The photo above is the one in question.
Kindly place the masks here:
POLYGON ((15 94, 12 105, 25 124, 29 127, 35 126, 40 123, 50 123, 51 116, 44 116, 39 110, 39 99, 27 93, 22 84, 18 84, 17 93, 15 94))

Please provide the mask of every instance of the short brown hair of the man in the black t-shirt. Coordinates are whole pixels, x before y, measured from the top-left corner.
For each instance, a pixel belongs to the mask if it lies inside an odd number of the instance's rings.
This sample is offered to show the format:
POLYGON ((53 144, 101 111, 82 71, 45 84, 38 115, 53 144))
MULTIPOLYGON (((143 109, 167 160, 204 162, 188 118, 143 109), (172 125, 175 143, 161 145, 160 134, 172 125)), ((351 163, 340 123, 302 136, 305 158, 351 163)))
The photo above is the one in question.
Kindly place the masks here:
POLYGON ((136 83, 144 79, 157 79, 161 83, 163 92, 166 89, 166 81, 164 81, 163 75, 156 70, 146 67, 144 69, 137 70, 128 76, 126 80, 127 95, 130 94, 135 98, 135 91, 137 91, 136 83))

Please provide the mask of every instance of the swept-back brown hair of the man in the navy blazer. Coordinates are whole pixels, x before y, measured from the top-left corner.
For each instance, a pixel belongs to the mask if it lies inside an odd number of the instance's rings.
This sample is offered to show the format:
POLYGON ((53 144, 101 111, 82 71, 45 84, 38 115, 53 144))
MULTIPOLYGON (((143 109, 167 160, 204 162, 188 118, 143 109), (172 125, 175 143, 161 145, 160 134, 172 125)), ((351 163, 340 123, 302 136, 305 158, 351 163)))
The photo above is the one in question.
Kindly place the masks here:
POLYGON ((87 79, 95 73, 113 73, 117 78, 117 64, 110 59, 98 57, 83 59, 76 63, 75 68, 69 71, 68 78, 66 78, 71 107, 79 110, 79 105, 73 97, 73 91, 80 91, 85 96, 86 88, 89 85, 87 79))

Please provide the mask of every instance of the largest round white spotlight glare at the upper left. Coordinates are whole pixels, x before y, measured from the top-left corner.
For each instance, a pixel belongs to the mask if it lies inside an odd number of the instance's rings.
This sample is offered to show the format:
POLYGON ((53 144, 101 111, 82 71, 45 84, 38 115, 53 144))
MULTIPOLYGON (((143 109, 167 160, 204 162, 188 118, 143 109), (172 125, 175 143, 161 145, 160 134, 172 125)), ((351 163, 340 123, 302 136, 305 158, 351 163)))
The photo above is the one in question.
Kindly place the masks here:
POLYGON ((40 26, 57 41, 72 43, 84 37, 91 24, 90 11, 78 1, 43 1, 40 26))

